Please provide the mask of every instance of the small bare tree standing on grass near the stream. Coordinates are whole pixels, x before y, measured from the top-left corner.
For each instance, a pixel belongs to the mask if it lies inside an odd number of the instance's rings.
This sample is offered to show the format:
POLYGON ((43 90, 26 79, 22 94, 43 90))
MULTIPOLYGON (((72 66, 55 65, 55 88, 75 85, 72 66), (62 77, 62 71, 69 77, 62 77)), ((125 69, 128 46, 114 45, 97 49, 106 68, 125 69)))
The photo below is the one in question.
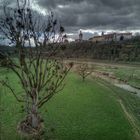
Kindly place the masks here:
POLYGON ((77 73, 82 77, 83 82, 85 78, 92 73, 92 69, 89 68, 88 64, 80 64, 77 67, 77 73))

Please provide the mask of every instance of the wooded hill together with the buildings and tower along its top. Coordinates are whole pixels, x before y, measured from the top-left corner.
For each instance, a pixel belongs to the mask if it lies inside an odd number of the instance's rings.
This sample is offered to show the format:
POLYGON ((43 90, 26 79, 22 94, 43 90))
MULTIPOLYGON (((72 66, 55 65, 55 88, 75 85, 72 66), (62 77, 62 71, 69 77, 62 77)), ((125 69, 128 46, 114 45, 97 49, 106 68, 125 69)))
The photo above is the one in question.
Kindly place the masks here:
MULTIPOLYGON (((57 57, 96 59, 108 61, 140 61, 140 37, 132 36, 132 33, 111 33, 94 36, 89 40, 83 40, 83 34, 80 32, 79 39, 69 42, 66 35, 63 42, 54 44, 60 47, 57 57)), ((52 44, 42 48, 42 53, 47 55, 51 50, 52 44)), ((28 47, 27 47, 28 48, 28 47)), ((0 52, 13 54, 14 47, 0 46, 0 52)))

